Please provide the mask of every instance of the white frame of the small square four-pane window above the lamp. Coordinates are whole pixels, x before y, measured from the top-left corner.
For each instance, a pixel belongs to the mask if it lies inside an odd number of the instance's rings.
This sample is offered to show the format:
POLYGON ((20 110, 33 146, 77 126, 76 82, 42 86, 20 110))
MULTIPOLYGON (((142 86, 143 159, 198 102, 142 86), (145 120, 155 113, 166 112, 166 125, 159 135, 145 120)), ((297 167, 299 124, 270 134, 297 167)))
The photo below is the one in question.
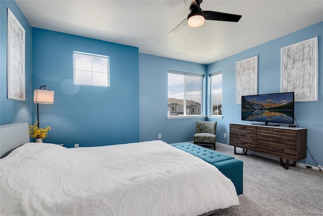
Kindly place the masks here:
MULTIPOLYGON (((104 72, 105 73, 105 72, 104 72)), ((98 55, 98 54, 94 54, 94 53, 88 53, 88 52, 80 52, 80 51, 73 51, 73 84, 74 85, 90 85, 90 86, 101 86, 101 87, 109 87, 110 86, 110 57, 109 56, 104 56, 104 55, 98 55), (75 56, 85 56, 85 57, 89 57, 91 58, 91 63, 93 62, 93 59, 106 59, 107 60, 107 65, 106 65, 106 78, 107 78, 107 82, 106 85, 95 85, 93 84, 93 73, 102 73, 102 72, 98 72, 98 71, 93 71, 93 64, 91 65, 91 70, 84 70, 86 72, 90 72, 91 73, 91 84, 82 84, 82 83, 76 83, 76 60, 75 60, 75 56)))

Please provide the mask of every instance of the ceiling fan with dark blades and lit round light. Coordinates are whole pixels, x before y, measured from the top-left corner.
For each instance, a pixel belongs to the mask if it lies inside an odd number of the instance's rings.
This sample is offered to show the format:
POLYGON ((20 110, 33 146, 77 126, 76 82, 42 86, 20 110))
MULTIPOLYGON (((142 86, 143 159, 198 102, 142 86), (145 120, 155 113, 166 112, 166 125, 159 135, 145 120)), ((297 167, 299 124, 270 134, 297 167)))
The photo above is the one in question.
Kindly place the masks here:
POLYGON ((205 20, 218 20, 227 22, 238 22, 241 15, 227 14, 216 11, 203 11, 200 4, 203 0, 184 0, 186 6, 190 9, 190 14, 180 24, 178 24, 168 35, 174 35, 182 27, 188 24, 191 27, 199 27, 204 24, 205 20))

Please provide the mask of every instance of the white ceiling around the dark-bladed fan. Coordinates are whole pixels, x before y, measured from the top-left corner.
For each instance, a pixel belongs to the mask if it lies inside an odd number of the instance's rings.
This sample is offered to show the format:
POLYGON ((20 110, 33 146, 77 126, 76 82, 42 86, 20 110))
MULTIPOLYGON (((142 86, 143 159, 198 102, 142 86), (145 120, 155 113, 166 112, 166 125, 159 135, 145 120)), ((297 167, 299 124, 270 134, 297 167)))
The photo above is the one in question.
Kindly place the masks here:
POLYGON ((139 47, 155 56, 210 64, 323 21, 323 1, 204 0, 201 9, 242 15, 206 20, 169 36, 189 14, 183 0, 16 0, 32 27, 139 47))

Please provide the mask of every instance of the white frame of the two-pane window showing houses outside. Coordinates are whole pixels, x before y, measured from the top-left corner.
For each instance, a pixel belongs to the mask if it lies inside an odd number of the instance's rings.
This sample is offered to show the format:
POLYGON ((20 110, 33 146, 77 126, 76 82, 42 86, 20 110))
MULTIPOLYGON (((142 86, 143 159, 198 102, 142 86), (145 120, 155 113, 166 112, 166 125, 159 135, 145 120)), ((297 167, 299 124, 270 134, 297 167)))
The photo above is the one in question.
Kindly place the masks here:
MULTIPOLYGON (((184 112, 184 114, 182 115, 182 116, 170 116, 170 110, 172 109, 172 107, 170 107, 170 105, 172 104, 172 103, 169 103, 169 96, 167 97, 167 99, 168 99, 168 113, 167 113, 167 118, 168 119, 181 119, 181 118, 204 118, 205 117, 205 115, 203 115, 203 113, 202 113, 202 111, 203 111, 203 102, 204 102, 204 97, 203 97, 203 95, 204 95, 204 92, 203 92, 203 89, 204 89, 204 85, 205 85, 205 83, 204 83, 204 74, 197 74, 197 73, 189 73, 189 72, 182 72, 182 71, 175 71, 175 70, 168 70, 168 75, 169 74, 177 74, 177 75, 183 75, 184 76, 184 94, 183 94, 183 107, 184 107, 184 109, 183 109, 183 112, 184 112), (201 114, 199 114, 199 115, 197 115, 197 114, 194 114, 194 115, 188 115, 187 114, 187 109, 188 109, 188 106, 189 105, 187 105, 187 92, 186 92, 186 77, 187 76, 193 76, 193 77, 200 77, 201 78, 201 89, 200 89, 200 92, 201 92, 201 103, 200 103, 200 107, 196 107, 196 109, 195 109, 195 107, 194 107, 194 112, 196 113, 198 110, 200 110, 200 112, 201 112, 201 114), (185 107, 186 107, 186 109, 185 109, 185 107), (199 108, 199 109, 198 109, 199 108)), ((168 83, 168 85, 169 85, 169 83, 168 83)), ((169 93, 168 93, 168 95, 169 95, 169 93)), ((182 105, 180 104, 179 105, 179 107, 182 107, 182 105)))

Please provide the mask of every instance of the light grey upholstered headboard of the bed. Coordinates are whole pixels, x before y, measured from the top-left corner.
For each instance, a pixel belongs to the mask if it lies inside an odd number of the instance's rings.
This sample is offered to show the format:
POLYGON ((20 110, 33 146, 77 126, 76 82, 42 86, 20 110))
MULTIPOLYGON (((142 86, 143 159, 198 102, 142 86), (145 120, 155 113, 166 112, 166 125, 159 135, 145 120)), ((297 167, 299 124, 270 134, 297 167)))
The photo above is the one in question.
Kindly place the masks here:
POLYGON ((0 158, 27 142, 30 142, 28 123, 0 125, 0 158))

